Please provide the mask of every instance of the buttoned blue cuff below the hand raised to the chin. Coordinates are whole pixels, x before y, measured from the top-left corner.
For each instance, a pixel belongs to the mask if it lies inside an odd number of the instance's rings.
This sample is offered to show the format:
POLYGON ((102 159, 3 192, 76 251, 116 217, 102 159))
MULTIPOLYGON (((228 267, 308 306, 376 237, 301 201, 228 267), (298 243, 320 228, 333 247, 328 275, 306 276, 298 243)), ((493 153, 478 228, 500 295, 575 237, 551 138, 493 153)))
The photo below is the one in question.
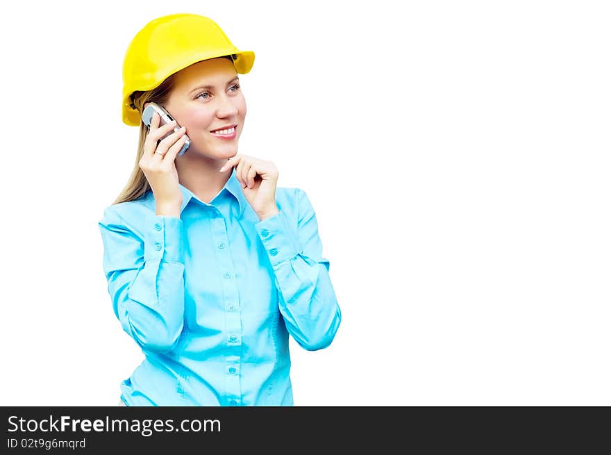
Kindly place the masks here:
POLYGON ((277 265, 303 252, 296 229, 290 225, 282 211, 256 223, 255 229, 263 242, 271 265, 277 265))

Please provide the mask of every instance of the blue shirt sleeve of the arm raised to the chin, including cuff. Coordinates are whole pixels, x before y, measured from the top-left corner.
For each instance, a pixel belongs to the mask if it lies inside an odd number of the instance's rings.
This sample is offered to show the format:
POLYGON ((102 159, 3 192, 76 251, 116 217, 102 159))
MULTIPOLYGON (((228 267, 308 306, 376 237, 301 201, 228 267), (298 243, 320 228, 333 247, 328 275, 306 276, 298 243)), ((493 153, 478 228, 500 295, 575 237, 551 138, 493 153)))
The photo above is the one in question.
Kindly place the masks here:
POLYGON ((281 210, 255 227, 276 274, 281 314, 287 330, 304 349, 330 345, 342 315, 322 257, 318 223, 310 199, 296 189, 297 226, 281 210))

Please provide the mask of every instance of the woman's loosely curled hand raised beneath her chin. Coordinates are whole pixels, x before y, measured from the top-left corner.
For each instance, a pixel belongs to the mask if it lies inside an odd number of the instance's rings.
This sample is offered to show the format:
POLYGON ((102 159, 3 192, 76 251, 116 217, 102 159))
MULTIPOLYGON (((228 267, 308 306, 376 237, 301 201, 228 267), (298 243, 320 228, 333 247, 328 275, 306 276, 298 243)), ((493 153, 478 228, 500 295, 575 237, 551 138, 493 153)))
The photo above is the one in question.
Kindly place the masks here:
POLYGON ((259 220, 276 215, 276 182, 278 169, 271 161, 260 160, 254 156, 237 154, 227 160, 219 172, 236 167, 235 176, 242 184, 246 196, 259 220))

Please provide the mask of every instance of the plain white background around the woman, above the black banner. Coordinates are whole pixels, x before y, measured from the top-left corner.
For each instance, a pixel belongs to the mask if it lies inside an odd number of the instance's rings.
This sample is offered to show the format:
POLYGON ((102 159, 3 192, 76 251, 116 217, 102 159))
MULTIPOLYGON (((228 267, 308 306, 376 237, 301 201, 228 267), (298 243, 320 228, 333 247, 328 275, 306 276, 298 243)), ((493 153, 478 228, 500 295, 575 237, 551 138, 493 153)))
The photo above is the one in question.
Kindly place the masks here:
POLYGON ((97 222, 135 162, 126 47, 188 12, 255 51, 240 153, 330 260, 342 325, 291 342, 296 405, 611 405, 608 4, 11 3, 0 404, 114 406, 142 361, 97 222))

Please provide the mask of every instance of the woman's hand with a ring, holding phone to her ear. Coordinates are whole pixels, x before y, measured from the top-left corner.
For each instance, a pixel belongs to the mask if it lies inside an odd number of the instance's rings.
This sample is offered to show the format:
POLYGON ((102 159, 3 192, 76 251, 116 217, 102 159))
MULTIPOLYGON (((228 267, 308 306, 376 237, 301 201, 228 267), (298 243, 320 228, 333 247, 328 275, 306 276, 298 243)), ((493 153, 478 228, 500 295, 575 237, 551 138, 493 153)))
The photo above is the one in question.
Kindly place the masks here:
POLYGON ((138 162, 140 169, 147 177, 157 207, 178 206, 183 203, 183 193, 178 187, 178 172, 174 160, 181 151, 187 135, 185 127, 174 131, 167 138, 158 141, 176 126, 176 120, 159 126, 160 117, 154 113, 151 118, 151 126, 144 140, 144 151, 138 162))

